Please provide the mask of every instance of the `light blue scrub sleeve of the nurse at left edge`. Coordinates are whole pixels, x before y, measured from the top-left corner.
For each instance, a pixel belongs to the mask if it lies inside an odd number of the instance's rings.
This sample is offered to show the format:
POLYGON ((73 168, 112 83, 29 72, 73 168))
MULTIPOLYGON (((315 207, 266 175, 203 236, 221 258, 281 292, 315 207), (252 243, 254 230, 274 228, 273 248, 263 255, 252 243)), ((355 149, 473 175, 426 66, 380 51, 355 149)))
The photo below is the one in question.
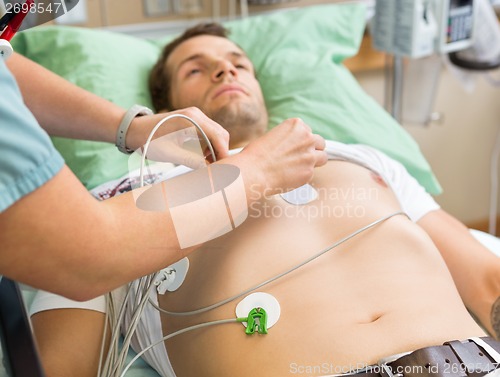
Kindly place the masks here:
POLYGON ((56 175, 64 160, 25 106, 17 83, 1 58, 0 93, 0 212, 3 212, 56 175))

